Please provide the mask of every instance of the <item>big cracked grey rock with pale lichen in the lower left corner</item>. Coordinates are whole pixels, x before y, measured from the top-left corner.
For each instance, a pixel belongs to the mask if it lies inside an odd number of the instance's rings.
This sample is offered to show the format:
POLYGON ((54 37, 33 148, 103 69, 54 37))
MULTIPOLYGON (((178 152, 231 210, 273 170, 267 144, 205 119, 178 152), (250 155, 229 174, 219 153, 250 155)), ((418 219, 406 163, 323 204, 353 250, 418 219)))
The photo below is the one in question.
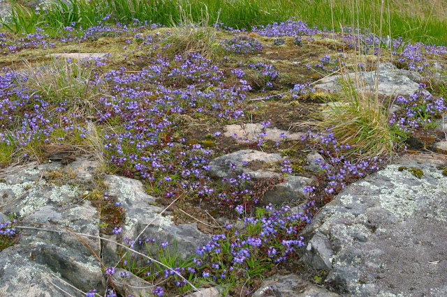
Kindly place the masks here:
POLYGON ((3 273, 0 273, 0 294, 63 296, 60 289, 48 285, 54 281, 67 291, 71 289, 64 281, 83 291, 100 290, 103 273, 98 259, 91 252, 93 250, 98 256, 101 254, 100 240, 85 237, 83 242, 65 229, 99 236, 96 208, 89 201, 75 202, 82 196, 78 186, 54 185, 40 177, 40 170, 29 167, 7 174, 0 183, 2 211, 6 215, 15 213, 26 221, 27 227, 39 228, 20 229, 20 243, 0 253, 0 262, 4 263, 3 273), (54 275, 59 275, 59 278, 54 275), (35 293, 15 291, 15 284, 26 277, 28 281, 24 283, 29 286, 24 289, 35 293))

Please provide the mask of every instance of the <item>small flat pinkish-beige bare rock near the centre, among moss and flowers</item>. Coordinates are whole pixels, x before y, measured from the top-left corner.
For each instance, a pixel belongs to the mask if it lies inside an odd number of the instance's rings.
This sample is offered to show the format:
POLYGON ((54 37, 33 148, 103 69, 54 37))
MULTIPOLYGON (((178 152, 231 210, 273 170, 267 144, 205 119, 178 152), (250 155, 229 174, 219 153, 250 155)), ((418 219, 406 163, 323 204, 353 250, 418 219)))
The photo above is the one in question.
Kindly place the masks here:
MULTIPOLYGON (((260 138, 259 133, 263 132, 263 128, 264 127, 261 123, 247 123, 244 124, 244 128, 242 128, 241 125, 237 124, 226 125, 223 135, 225 135, 226 137, 234 137, 240 144, 247 144, 247 142, 256 142, 256 139, 260 138)), ((281 133, 284 133, 284 135, 286 135, 286 139, 288 140, 299 140, 301 139, 302 135, 305 135, 305 133, 290 132, 274 127, 265 128, 265 132, 267 133, 267 136, 262 138, 265 140, 273 141, 284 139, 281 138, 281 133)))

